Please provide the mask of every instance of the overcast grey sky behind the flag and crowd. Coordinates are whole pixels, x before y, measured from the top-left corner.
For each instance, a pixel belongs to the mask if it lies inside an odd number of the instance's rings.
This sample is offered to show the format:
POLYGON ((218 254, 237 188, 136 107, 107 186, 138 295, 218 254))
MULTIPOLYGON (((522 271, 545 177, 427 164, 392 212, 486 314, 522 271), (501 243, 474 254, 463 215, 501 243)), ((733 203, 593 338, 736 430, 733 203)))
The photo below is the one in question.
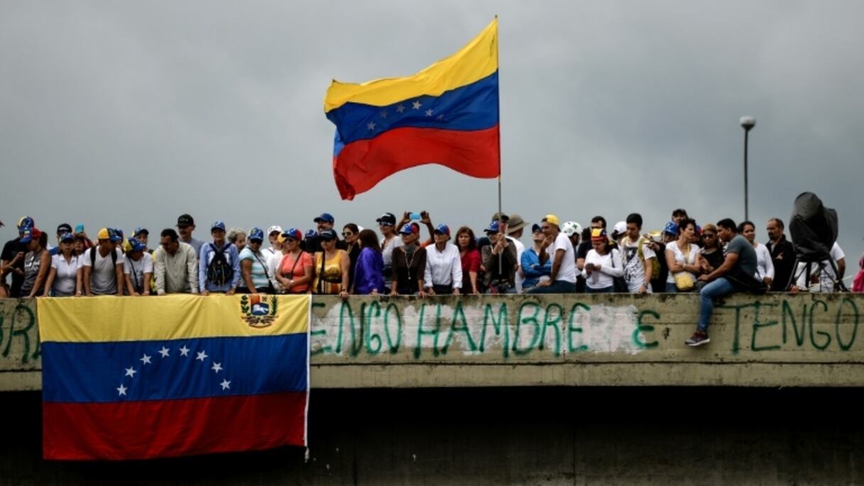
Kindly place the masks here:
MULTIPOLYGON (((861 2, 6 2, 3 240, 23 214, 173 226, 374 226, 428 209, 479 230, 493 180, 403 171, 354 201, 332 175, 332 79, 409 75, 499 14, 504 208, 583 226, 673 208, 742 219, 742 115, 759 240, 810 190, 864 249, 861 2)), ((524 238, 525 241, 529 239, 524 238)), ((54 241, 52 241, 54 242, 54 241)), ((152 244, 151 244, 152 246, 152 244)), ((854 264, 852 264, 854 265, 854 264)))

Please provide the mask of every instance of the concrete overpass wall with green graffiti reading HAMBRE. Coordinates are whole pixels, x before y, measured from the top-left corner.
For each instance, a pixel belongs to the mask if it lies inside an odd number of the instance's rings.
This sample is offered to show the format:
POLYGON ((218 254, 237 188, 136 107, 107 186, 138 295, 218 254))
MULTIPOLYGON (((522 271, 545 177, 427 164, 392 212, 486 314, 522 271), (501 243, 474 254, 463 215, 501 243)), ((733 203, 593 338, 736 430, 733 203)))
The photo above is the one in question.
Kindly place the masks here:
MULTIPOLYGON (((206 297, 202 297, 206 298, 206 297)), ((213 298, 213 297, 210 297, 213 298)), ((864 385, 864 297, 314 297, 313 387, 864 385)), ((0 390, 38 389, 34 301, 0 301, 0 390)))

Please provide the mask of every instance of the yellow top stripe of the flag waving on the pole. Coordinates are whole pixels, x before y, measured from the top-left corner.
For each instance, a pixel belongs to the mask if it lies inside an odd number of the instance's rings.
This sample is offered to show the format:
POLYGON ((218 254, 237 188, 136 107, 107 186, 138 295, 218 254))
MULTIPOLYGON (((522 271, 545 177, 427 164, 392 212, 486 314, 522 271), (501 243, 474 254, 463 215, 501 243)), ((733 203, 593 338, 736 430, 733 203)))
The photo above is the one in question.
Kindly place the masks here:
POLYGON ((324 98, 324 112, 347 102, 387 106, 416 96, 438 96, 486 78, 498 71, 498 19, 459 52, 407 78, 387 78, 362 84, 334 80, 324 98))

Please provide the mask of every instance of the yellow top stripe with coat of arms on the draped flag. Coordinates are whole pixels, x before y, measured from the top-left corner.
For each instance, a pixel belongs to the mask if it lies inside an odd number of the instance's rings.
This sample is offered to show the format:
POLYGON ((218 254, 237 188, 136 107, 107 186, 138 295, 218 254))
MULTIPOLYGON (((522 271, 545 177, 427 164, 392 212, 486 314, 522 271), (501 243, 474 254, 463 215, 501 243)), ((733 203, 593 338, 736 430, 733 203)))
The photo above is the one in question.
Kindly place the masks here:
POLYGON ((42 342, 276 336, 307 332, 310 298, 184 294, 46 297, 38 300, 37 311, 42 342))

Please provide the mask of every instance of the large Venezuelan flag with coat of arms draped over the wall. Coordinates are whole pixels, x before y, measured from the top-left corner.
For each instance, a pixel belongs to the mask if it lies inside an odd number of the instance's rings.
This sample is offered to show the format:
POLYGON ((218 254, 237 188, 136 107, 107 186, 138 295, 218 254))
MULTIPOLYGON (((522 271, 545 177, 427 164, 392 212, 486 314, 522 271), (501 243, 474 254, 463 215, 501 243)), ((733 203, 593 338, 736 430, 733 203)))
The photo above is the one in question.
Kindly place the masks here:
POLYGON ((305 445, 309 298, 40 300, 43 457, 305 445))

